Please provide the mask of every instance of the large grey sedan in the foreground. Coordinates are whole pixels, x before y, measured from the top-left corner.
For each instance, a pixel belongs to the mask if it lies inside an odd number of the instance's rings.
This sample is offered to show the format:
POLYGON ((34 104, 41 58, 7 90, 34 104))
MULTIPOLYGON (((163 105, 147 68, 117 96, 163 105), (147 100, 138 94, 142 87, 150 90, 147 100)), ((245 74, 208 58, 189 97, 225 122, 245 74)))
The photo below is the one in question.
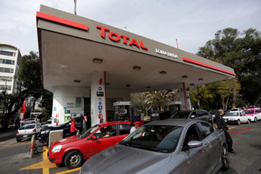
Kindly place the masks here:
POLYGON ((220 168, 229 168, 223 131, 201 120, 166 119, 90 157, 79 173, 203 174, 220 168))

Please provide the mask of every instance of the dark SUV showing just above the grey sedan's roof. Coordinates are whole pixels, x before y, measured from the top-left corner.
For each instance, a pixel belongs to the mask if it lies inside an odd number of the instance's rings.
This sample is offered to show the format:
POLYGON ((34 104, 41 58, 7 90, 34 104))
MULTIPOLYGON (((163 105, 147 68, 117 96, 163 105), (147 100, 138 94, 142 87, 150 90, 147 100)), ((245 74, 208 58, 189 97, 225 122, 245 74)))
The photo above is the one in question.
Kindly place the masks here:
POLYGON ((203 109, 177 111, 173 115, 171 115, 171 118, 200 119, 206 122, 213 123, 212 116, 209 114, 208 111, 203 109))

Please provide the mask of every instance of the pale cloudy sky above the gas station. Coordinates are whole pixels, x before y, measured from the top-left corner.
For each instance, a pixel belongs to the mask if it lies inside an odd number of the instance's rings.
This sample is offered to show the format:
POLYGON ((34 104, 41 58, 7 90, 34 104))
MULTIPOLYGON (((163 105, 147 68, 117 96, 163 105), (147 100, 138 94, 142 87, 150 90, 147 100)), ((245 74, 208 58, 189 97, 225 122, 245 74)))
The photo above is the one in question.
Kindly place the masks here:
MULTIPOLYGON (((74 0, 0 0, 0 43, 39 51, 40 4, 74 13, 74 0)), ((197 53, 224 28, 261 31, 261 0, 77 0, 77 15, 197 53)))

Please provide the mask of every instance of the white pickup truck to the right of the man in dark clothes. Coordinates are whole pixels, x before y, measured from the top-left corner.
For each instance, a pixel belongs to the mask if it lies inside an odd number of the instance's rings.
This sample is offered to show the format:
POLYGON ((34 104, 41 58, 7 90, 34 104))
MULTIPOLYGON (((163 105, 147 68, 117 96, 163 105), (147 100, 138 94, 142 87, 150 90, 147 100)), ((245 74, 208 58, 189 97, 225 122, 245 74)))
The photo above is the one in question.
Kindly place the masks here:
POLYGON ((225 122, 235 123, 240 125, 240 123, 250 124, 250 116, 242 113, 241 111, 230 111, 223 116, 225 122))

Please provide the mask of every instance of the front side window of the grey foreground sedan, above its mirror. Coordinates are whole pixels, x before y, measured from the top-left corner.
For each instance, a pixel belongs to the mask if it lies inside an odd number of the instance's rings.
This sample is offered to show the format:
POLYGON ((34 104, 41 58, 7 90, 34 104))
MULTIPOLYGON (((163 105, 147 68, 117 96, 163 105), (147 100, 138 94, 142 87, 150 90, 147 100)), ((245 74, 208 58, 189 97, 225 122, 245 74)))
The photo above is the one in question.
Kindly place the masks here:
POLYGON ((188 143, 190 141, 200 141, 200 140, 201 139, 200 139, 200 136, 197 131, 197 126, 196 126, 196 124, 193 124, 186 131, 186 135, 185 135, 182 147, 183 147, 183 149, 185 149, 186 147, 188 147, 188 143))

